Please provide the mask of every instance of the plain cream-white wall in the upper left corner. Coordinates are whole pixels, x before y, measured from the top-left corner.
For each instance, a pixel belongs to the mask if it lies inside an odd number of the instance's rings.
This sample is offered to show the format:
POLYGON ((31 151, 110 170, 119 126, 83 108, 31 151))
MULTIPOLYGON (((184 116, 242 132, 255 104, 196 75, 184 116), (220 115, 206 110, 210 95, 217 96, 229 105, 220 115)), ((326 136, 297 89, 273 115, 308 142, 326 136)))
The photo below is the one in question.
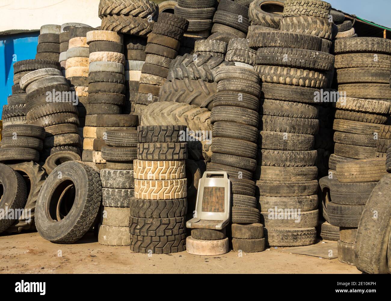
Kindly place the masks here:
POLYGON ((0 34, 69 22, 98 27, 98 7, 99 0, 0 0, 0 34))

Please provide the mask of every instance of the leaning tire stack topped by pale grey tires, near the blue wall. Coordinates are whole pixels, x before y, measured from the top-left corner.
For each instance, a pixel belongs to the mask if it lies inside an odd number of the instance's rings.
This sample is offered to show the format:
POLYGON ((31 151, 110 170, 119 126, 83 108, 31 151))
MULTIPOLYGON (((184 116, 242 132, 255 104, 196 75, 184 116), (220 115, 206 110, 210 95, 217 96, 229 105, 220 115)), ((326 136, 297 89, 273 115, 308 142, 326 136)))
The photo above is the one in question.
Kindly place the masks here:
POLYGON ((54 156, 50 159, 56 164, 67 159, 80 159, 81 138, 75 95, 61 71, 54 68, 32 71, 22 77, 20 85, 27 93, 27 121, 45 128, 40 162, 47 161, 50 156, 54 156), (57 152, 61 152, 61 156, 57 152))

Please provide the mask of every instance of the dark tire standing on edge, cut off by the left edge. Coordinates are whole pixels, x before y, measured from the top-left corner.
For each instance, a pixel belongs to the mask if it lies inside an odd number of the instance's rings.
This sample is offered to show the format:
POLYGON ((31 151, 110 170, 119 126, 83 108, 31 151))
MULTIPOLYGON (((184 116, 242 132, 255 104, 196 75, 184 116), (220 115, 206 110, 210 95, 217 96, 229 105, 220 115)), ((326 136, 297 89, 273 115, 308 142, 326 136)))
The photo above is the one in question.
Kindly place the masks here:
POLYGON ((0 233, 14 224, 18 217, 8 216, 9 210, 22 210, 27 200, 27 187, 23 177, 7 165, 0 164, 0 183, 3 195, 0 208, 3 211, 0 219, 0 233))

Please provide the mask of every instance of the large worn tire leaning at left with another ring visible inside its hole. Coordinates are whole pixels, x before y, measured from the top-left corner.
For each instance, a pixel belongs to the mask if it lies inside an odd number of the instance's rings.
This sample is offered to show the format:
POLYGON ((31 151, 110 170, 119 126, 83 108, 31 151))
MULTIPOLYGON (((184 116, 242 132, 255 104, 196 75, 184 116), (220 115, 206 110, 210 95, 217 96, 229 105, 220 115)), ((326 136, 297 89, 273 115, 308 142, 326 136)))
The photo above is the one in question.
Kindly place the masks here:
POLYGON ((72 244, 95 226, 102 202, 99 170, 80 161, 57 166, 38 195, 35 224, 39 235, 72 244))

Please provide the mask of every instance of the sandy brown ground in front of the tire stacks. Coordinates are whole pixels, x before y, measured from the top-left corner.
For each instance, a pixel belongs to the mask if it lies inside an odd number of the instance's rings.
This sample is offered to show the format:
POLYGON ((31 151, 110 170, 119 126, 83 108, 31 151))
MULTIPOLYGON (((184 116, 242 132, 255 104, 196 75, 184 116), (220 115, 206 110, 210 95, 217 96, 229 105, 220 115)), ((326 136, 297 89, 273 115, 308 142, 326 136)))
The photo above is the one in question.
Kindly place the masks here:
POLYGON ((354 266, 338 259, 282 252, 281 248, 261 253, 231 251, 219 256, 133 253, 129 247, 100 245, 92 233, 76 244, 60 245, 38 233, 0 235, 0 273, 341 273, 359 274, 354 266), (62 256, 58 256, 62 253, 62 256))

